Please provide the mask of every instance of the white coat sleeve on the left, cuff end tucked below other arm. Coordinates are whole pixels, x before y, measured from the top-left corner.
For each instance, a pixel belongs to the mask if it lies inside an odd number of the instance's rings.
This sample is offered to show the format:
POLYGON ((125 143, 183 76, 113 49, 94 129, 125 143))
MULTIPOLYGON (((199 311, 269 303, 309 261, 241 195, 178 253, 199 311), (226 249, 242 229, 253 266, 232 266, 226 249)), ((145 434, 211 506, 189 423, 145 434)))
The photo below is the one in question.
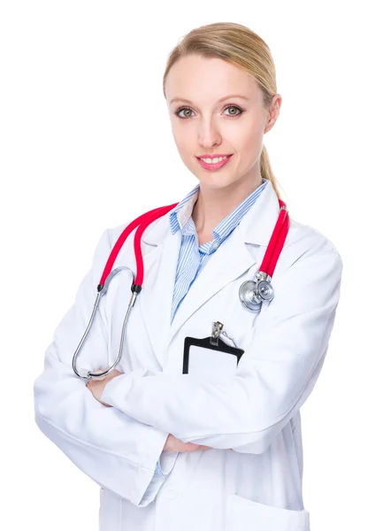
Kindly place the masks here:
MULTIPOLYGON (((110 252, 109 231, 105 231, 75 303, 45 352, 44 371, 34 381, 34 418, 42 433, 83 473, 104 489, 143 507, 165 481, 163 475, 155 474, 158 459, 167 474, 178 456, 178 452, 163 450, 169 432, 100 404, 86 387, 87 380, 76 376, 72 368, 73 353, 87 327, 110 252)), ((107 329, 103 296, 77 358, 78 366, 96 370, 110 365, 107 329)))

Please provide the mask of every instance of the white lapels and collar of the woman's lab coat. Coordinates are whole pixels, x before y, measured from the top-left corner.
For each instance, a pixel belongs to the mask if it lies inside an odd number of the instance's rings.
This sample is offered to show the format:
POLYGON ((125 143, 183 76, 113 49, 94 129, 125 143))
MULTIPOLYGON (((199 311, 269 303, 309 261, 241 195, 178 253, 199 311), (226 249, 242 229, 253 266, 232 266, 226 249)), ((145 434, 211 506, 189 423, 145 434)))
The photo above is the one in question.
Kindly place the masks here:
MULTIPOLYGON (((182 300, 172 325, 172 297, 181 231, 172 235, 168 213, 144 231, 142 254, 145 274, 140 307, 160 366, 165 366, 174 335, 193 313, 229 282, 244 273, 248 273, 247 278, 255 275, 278 216, 279 200, 270 181, 233 233, 205 264, 182 300), (148 245, 154 246, 153 249, 147 248, 148 245), (259 250, 263 252, 259 254, 259 250), (251 268, 254 271, 250 271, 251 268)), ((233 293, 233 296, 238 294, 233 293)), ((241 304, 240 300, 238 304, 241 304)), ((212 322, 217 319, 218 315, 212 315, 212 322)), ((210 335, 209 329, 207 335, 210 335)))

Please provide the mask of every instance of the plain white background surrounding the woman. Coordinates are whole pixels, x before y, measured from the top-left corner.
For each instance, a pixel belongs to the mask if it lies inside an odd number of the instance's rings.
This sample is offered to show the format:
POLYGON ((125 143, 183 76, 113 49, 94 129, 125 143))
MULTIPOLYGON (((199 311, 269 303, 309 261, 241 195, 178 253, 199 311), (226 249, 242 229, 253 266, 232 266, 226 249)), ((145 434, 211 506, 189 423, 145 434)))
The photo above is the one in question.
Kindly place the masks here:
POLYGON ((291 217, 325 234, 344 262, 330 350, 302 407, 304 504, 314 531, 371 526, 370 8, 358 1, 1 4, 4 529, 98 528, 99 487, 34 424, 34 379, 103 230, 178 202, 197 183, 175 148, 162 78, 179 39, 218 21, 248 26, 270 46, 283 96, 264 136, 273 171, 291 217))

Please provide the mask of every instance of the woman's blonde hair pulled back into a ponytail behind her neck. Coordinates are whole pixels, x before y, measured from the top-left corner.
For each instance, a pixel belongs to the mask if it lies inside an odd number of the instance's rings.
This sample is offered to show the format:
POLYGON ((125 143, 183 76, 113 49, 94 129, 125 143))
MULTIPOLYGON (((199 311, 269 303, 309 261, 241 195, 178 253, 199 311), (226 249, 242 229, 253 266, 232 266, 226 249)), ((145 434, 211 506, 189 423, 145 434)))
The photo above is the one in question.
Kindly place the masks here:
MULTIPOLYGON (((165 80, 172 65, 188 55, 221 58, 247 71, 263 91, 265 108, 272 103, 272 97, 277 93, 276 70, 271 51, 263 39, 249 27, 233 22, 215 22, 191 30, 168 56, 163 77, 164 96, 165 80)), ((272 182, 273 189, 281 199, 276 177, 272 172, 270 158, 264 145, 260 159, 260 171, 264 179, 272 182)))

